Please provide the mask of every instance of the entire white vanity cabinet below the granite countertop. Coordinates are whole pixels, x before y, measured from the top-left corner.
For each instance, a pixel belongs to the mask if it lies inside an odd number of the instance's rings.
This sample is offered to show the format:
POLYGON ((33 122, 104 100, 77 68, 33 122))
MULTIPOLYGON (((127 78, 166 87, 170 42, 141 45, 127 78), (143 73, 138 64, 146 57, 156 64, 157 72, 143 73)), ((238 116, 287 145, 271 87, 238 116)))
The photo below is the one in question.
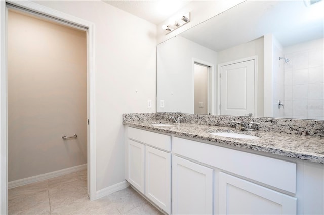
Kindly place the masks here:
POLYGON ((324 214, 323 164, 128 126, 126 142, 127 181, 168 214, 324 214))

